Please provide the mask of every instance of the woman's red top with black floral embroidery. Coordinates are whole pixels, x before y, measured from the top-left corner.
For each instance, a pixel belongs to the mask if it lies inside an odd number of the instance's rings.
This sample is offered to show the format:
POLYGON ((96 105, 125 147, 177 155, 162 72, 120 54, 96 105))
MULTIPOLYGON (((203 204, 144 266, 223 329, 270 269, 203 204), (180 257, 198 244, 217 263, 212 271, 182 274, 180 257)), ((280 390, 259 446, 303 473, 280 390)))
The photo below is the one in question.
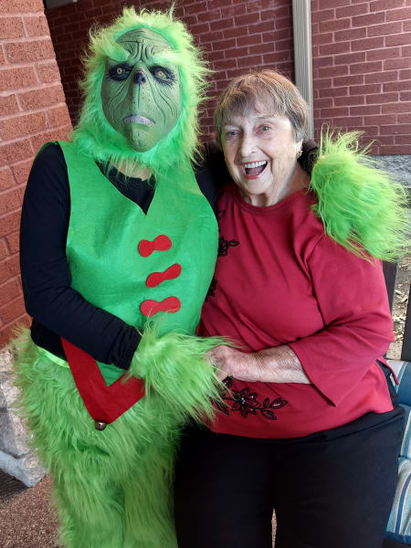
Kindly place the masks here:
POLYGON ((393 340, 381 264, 324 234, 305 190, 246 203, 235 184, 218 201, 220 247, 200 332, 244 352, 289 344, 311 385, 233 379, 211 426, 246 437, 301 437, 393 409, 375 360, 393 340))

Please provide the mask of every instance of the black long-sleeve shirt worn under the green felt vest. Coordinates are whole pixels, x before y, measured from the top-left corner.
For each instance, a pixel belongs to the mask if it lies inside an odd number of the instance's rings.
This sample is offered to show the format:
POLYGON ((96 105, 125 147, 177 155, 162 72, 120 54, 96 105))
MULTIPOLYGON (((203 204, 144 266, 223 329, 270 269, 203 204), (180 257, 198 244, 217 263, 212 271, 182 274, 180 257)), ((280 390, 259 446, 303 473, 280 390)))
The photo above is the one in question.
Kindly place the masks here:
MULTIPOLYGON (((300 163, 311 171, 315 143, 305 143, 300 163)), ((121 194, 147 212, 155 184, 125 178, 111 169, 100 170, 121 194)), ((221 184, 229 177, 223 154, 213 145, 195 166, 199 188, 214 207, 221 184)), ((31 169, 23 203, 20 228, 20 266, 26 311, 33 317, 31 336, 38 346, 65 358, 60 337, 90 353, 96 360, 127 369, 141 335, 108 311, 92 305, 71 288, 66 257, 70 216, 68 170, 58 144, 37 155, 31 169)))

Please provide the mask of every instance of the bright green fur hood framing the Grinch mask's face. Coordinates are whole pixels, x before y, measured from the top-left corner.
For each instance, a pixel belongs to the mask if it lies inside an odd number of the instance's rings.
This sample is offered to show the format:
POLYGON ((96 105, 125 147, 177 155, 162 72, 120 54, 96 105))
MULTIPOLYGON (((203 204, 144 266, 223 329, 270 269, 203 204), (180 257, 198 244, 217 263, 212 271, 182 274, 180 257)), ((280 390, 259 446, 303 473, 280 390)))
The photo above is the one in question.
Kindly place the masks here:
POLYGON ((163 174, 171 165, 194 159, 198 150, 198 105, 204 99, 208 68, 184 24, 174 20, 173 8, 166 14, 145 9, 136 13, 133 7, 124 8, 111 26, 90 31, 90 50, 84 64, 85 75, 80 82, 84 103, 79 124, 72 133, 82 153, 105 163, 139 163, 163 174), (171 55, 181 79, 181 113, 174 129, 143 153, 132 149, 127 139, 111 127, 101 104, 106 59, 125 60, 128 54, 116 40, 137 28, 151 29, 167 40, 173 48, 167 58, 171 55))

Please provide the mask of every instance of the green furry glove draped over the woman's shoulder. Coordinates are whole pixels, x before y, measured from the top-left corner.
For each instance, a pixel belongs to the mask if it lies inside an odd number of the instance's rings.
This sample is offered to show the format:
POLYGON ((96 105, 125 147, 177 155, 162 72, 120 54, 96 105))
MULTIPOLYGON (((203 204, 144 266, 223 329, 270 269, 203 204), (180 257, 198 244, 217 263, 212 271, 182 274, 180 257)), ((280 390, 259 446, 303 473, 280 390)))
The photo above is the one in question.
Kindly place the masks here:
POLYGON ((361 132, 321 135, 311 174, 313 205, 326 233, 363 258, 391 260, 410 248, 406 191, 360 150, 361 132))

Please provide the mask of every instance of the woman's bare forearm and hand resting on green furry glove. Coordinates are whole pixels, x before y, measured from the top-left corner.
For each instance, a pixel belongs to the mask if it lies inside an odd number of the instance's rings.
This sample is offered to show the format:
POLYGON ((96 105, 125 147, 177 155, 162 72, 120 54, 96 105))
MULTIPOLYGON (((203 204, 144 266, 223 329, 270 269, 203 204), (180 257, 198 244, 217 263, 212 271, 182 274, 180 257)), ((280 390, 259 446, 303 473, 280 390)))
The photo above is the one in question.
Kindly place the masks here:
POLYGON ((240 352, 236 348, 220 344, 207 355, 221 380, 232 376, 251 383, 311 384, 300 360, 287 344, 256 353, 240 352))

